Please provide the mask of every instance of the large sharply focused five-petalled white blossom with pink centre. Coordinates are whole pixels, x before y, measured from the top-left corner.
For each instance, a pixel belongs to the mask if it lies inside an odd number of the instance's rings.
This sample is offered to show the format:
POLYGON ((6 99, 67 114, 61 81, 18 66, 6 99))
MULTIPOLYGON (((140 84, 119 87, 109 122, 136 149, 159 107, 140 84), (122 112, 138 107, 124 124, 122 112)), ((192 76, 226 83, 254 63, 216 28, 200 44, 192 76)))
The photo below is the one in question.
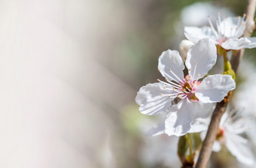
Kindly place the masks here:
POLYGON ((184 62, 179 53, 172 50, 163 52, 158 60, 158 70, 166 78, 166 82, 158 80, 159 83, 150 83, 139 90, 136 103, 140 106, 140 112, 157 115, 169 110, 165 132, 175 136, 186 134, 194 118, 198 116, 193 101, 205 104, 220 102, 236 87, 229 75, 209 75, 202 82, 199 81, 215 65, 216 59, 215 44, 209 38, 199 40, 187 52, 185 65, 188 75, 184 77, 184 62), (181 101, 172 105, 175 98, 181 101))

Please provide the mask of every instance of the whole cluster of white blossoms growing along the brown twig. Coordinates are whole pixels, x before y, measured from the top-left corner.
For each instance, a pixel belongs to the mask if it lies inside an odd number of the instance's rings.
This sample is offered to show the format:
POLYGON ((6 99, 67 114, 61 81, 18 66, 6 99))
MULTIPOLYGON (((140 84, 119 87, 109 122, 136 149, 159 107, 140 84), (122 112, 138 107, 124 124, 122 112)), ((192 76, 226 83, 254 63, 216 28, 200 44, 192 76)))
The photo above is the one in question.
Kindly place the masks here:
MULTIPOLYGON (((209 17, 208 17, 209 18, 209 17)), ((236 88, 227 52, 256 47, 255 37, 242 37, 245 31, 245 16, 223 17, 218 14, 216 29, 210 26, 197 28, 187 26, 184 35, 190 40, 185 57, 178 51, 166 50, 158 58, 158 71, 163 80, 142 86, 136 96, 139 111, 145 115, 166 113, 166 118, 151 135, 167 133, 169 136, 184 136, 202 132, 206 135, 215 103, 221 102, 236 88), (209 74, 217 58, 224 58, 224 73, 209 74)), ((181 52, 184 52, 181 51, 181 52)), ((226 144, 231 154, 245 164, 253 163, 253 155, 245 147, 246 140, 239 136, 248 129, 247 120, 236 119, 236 113, 225 113, 213 150, 219 151, 226 144)))

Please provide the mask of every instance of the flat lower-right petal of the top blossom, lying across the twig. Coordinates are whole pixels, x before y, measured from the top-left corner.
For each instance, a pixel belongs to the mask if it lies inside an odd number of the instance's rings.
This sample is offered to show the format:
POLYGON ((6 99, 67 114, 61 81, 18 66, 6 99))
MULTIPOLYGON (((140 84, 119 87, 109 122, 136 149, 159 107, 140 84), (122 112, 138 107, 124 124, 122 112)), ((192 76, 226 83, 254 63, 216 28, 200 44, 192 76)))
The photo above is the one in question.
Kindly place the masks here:
POLYGON ((221 44, 221 46, 224 49, 242 49, 245 48, 245 46, 248 46, 248 44, 251 43, 248 38, 242 37, 242 38, 230 38, 226 40, 224 43, 221 44))

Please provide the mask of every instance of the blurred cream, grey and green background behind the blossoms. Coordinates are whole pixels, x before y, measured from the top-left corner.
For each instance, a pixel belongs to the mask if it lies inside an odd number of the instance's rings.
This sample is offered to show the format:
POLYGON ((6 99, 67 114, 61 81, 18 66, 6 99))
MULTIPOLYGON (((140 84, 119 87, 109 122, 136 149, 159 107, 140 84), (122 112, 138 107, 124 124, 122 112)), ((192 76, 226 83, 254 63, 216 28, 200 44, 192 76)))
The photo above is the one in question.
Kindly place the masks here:
MULTIPOLYGON (((157 117, 139 113, 136 92, 161 78, 157 59, 178 50, 184 26, 208 25, 207 15, 215 19, 218 12, 242 16, 245 6, 0 0, 0 166, 179 167, 178 139, 146 135, 157 117)), ((240 83, 255 72, 255 53, 246 50, 240 83)), ((253 89, 248 83, 241 89, 253 89)), ((211 167, 246 167, 225 149, 212 160, 211 167)))

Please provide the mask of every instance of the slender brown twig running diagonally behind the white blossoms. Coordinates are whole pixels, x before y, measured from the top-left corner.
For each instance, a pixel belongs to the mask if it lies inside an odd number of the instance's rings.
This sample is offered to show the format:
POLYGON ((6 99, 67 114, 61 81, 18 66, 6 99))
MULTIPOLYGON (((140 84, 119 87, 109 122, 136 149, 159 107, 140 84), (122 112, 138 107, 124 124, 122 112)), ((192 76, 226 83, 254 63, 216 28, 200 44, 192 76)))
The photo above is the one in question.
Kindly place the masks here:
MULTIPOLYGON (((256 7, 256 0, 248 0, 247 8, 246 8, 246 28, 244 32, 245 37, 250 37, 251 33, 254 31, 254 13, 256 7)), ((236 52, 231 58, 231 65, 233 70, 236 72, 239 62, 241 61, 242 55, 244 53, 244 49, 241 52, 236 52)), ((218 133, 218 127, 221 121, 221 116, 224 114, 227 108, 228 100, 224 99, 218 103, 215 107, 214 112, 212 113, 212 120, 209 124, 209 129, 206 133, 206 139, 203 141, 203 146, 200 151, 200 156, 197 161, 196 168, 206 168, 209 158, 212 154, 212 145, 215 142, 216 134, 218 133)))

